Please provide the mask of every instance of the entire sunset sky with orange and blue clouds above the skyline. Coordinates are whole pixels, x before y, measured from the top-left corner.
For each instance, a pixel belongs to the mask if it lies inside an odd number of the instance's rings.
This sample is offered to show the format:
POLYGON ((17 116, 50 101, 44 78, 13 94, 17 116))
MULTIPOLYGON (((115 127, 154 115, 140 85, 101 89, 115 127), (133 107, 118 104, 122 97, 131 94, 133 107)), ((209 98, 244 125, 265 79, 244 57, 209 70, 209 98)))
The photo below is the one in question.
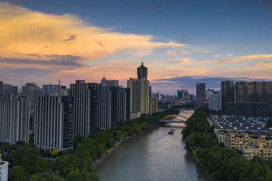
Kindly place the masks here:
POLYGON ((272 81, 272 0, 0 0, 0 79, 69 87, 137 78, 176 95, 196 83, 272 81))

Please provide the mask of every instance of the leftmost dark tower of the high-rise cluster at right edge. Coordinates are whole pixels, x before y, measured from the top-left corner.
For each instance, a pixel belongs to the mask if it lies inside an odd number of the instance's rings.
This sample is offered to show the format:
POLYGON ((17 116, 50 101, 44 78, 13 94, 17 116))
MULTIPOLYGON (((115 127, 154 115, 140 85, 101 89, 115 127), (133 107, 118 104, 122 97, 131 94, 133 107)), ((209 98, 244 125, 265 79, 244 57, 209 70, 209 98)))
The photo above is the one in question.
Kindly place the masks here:
POLYGON ((221 113, 227 114, 227 103, 234 102, 234 82, 232 80, 221 81, 221 113))

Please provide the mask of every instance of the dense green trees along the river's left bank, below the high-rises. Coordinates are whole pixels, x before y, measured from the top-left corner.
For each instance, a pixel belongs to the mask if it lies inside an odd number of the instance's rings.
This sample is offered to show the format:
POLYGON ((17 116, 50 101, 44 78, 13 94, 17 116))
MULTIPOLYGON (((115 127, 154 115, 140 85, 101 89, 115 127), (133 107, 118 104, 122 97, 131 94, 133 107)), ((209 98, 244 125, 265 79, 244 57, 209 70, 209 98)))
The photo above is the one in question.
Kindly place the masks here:
MULTIPOLYGON (((159 120, 172 114, 178 114, 176 109, 154 113, 149 117, 141 117, 129 122, 118 122, 109 129, 97 129, 88 137, 77 135, 73 139, 73 150, 50 153, 49 149, 38 149, 32 142, 25 145, 18 141, 16 145, 3 143, 0 150, 13 150, 11 154, 3 155, 3 160, 10 162, 10 180, 99 180, 93 173, 94 160, 103 156, 107 149, 123 137, 139 135, 141 131, 159 124, 159 120), (42 156, 56 155, 56 160, 43 159, 42 156), (47 174, 43 172, 47 171, 47 174)), ((33 140, 33 139, 32 139, 33 140)))

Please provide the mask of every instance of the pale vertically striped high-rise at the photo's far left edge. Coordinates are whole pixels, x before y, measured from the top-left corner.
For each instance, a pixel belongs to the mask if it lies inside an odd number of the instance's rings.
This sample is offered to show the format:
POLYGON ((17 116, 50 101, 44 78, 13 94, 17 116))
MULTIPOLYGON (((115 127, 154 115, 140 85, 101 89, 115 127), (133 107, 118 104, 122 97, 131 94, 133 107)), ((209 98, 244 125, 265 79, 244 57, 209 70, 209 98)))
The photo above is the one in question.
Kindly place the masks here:
POLYGON ((29 143, 29 104, 25 95, 0 94, 0 142, 29 143))

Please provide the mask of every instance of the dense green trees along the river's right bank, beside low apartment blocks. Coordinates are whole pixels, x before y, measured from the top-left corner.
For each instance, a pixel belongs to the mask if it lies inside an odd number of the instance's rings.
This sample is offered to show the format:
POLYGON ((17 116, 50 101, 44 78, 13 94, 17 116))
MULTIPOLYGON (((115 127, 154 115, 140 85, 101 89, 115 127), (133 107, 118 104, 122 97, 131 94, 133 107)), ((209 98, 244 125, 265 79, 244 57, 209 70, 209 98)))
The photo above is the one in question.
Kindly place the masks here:
POLYGON ((240 150, 219 144, 207 123, 207 117, 215 114, 220 115, 206 108, 196 109, 182 131, 185 148, 195 154, 199 166, 216 180, 272 180, 272 160, 255 155, 247 161, 240 150))

